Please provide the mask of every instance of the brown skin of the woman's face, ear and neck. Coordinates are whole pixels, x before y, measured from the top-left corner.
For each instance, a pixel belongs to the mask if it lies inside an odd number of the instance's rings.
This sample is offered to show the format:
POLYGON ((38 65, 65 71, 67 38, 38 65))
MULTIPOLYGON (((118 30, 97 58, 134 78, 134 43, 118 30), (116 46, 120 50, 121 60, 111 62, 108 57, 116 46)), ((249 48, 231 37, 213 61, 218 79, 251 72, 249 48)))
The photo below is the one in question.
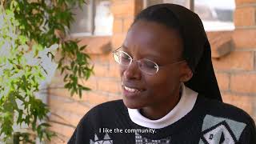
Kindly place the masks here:
POLYGON ((164 117, 177 105, 182 82, 192 77, 186 62, 182 60, 182 38, 178 30, 158 22, 139 20, 130 27, 123 42, 123 51, 134 60, 148 58, 161 66, 157 74, 149 75, 139 70, 136 62, 121 67, 123 102, 131 109, 139 109, 146 118, 164 117), (127 97, 124 86, 142 90, 127 97))

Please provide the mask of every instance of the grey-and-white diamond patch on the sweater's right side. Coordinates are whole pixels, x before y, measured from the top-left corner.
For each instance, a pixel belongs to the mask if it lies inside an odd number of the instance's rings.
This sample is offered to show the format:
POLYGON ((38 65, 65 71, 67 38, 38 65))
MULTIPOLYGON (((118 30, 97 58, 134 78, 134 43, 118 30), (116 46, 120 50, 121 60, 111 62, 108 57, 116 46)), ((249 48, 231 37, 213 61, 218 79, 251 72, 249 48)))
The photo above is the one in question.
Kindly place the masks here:
POLYGON ((207 114, 203 120, 199 144, 234 144, 238 142, 245 127, 245 123, 207 114))

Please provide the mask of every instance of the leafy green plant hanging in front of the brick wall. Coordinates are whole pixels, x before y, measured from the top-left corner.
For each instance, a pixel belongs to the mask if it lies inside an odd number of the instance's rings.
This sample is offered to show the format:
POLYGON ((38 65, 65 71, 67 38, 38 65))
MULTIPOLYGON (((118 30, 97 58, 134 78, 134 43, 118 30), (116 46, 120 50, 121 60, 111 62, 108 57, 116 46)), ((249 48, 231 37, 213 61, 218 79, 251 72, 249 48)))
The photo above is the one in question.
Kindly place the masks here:
POLYGON ((34 142, 30 130, 25 130, 29 128, 40 141, 54 135, 44 122, 50 110, 34 94, 47 76, 41 65, 43 57, 58 62, 58 70, 65 74, 64 87, 71 95, 81 97, 82 90, 90 90, 78 83, 79 78, 88 79, 93 72, 89 55, 83 53, 86 46, 78 46, 78 40, 66 39, 74 21, 71 10, 84 3, 84 0, 1 1, 0 135, 5 141, 13 136, 17 143, 34 142), (60 58, 55 57, 54 49, 60 58), (13 126, 19 130, 15 131, 13 126))

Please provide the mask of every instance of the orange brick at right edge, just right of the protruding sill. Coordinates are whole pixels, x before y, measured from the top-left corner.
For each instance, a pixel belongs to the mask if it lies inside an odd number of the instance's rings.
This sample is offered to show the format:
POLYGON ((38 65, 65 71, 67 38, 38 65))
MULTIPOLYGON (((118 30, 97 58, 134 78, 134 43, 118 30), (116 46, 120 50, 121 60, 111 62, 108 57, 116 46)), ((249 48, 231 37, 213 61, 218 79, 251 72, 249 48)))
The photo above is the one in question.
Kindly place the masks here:
POLYGON ((233 41, 237 49, 256 48, 256 29, 234 30, 233 41))

